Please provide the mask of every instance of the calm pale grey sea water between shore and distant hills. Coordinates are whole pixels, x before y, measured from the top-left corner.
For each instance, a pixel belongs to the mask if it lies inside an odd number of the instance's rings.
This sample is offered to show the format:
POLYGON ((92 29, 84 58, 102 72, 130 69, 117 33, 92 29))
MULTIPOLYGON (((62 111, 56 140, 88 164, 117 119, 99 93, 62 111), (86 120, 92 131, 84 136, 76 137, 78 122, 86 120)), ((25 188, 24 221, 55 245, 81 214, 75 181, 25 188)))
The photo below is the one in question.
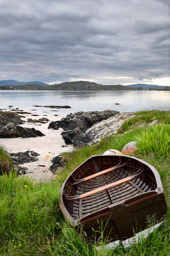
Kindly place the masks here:
MULTIPOLYGON (((34 110, 39 115, 66 116, 77 111, 101 111, 114 109, 120 112, 146 109, 170 109, 170 92, 158 91, 26 91, 0 90, 0 108, 20 108, 34 110), (120 103, 121 105, 115 105, 120 103), (33 105, 69 105, 71 109, 35 108, 33 105), (46 114, 47 115, 47 114, 46 114)), ((31 111, 33 113, 33 111, 31 111)))

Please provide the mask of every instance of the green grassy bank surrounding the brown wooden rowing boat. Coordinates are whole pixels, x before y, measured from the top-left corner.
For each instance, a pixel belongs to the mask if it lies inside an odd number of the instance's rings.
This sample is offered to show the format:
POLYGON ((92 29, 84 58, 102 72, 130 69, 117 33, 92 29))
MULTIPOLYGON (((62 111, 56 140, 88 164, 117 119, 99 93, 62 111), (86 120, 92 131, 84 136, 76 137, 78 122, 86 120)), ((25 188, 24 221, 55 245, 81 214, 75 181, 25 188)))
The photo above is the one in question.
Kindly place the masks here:
POLYGON ((123 135, 109 136, 91 147, 80 148, 64 154, 67 159, 64 172, 57 179, 45 184, 37 184, 24 177, 0 177, 0 255, 71 255, 71 256, 105 256, 105 255, 159 255, 169 253, 169 208, 167 220, 155 232, 139 244, 125 249, 122 245, 115 250, 106 250, 104 241, 99 244, 88 244, 77 232, 67 225, 59 210, 60 186, 67 175, 81 164, 87 157, 103 154, 108 148, 122 150, 125 143, 138 136, 146 136, 148 152, 139 148, 136 156, 152 164, 160 173, 167 202, 169 204, 169 145, 164 143, 164 136, 169 134, 168 125, 159 125, 155 129, 160 134, 155 147, 155 137, 147 137, 152 127, 135 127, 123 135), (160 131, 163 132, 162 136, 160 131), (164 143, 162 153, 158 154, 160 145, 164 143), (167 154, 165 154, 167 152, 167 154))

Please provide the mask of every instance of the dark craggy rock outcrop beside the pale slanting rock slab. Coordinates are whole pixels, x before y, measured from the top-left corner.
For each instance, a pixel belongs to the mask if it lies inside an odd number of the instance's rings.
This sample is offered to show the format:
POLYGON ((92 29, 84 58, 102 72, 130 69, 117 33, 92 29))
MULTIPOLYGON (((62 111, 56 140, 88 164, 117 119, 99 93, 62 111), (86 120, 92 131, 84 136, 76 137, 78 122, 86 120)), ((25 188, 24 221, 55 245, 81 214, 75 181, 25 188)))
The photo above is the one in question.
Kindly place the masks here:
MULTIPOLYGON (((73 144, 78 138, 81 137, 83 145, 89 141, 88 136, 84 136, 84 132, 87 131, 94 124, 106 120, 111 116, 117 115, 119 112, 115 110, 104 110, 104 111, 90 111, 90 112, 77 112, 69 114, 60 121, 51 122, 48 129, 64 129, 62 132, 62 138, 67 145, 73 144)), ((80 145, 78 145, 79 147, 80 145)))

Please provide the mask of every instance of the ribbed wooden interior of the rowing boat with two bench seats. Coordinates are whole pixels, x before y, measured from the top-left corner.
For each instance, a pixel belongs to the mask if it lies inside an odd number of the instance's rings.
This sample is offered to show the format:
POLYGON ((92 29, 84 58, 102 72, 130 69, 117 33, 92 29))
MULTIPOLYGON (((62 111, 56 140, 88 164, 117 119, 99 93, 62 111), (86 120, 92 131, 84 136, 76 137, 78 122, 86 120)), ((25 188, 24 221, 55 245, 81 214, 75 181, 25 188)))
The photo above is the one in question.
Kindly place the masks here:
POLYGON ((138 159, 94 156, 69 175, 62 200, 73 220, 81 220, 108 205, 156 188, 152 170, 138 159))

